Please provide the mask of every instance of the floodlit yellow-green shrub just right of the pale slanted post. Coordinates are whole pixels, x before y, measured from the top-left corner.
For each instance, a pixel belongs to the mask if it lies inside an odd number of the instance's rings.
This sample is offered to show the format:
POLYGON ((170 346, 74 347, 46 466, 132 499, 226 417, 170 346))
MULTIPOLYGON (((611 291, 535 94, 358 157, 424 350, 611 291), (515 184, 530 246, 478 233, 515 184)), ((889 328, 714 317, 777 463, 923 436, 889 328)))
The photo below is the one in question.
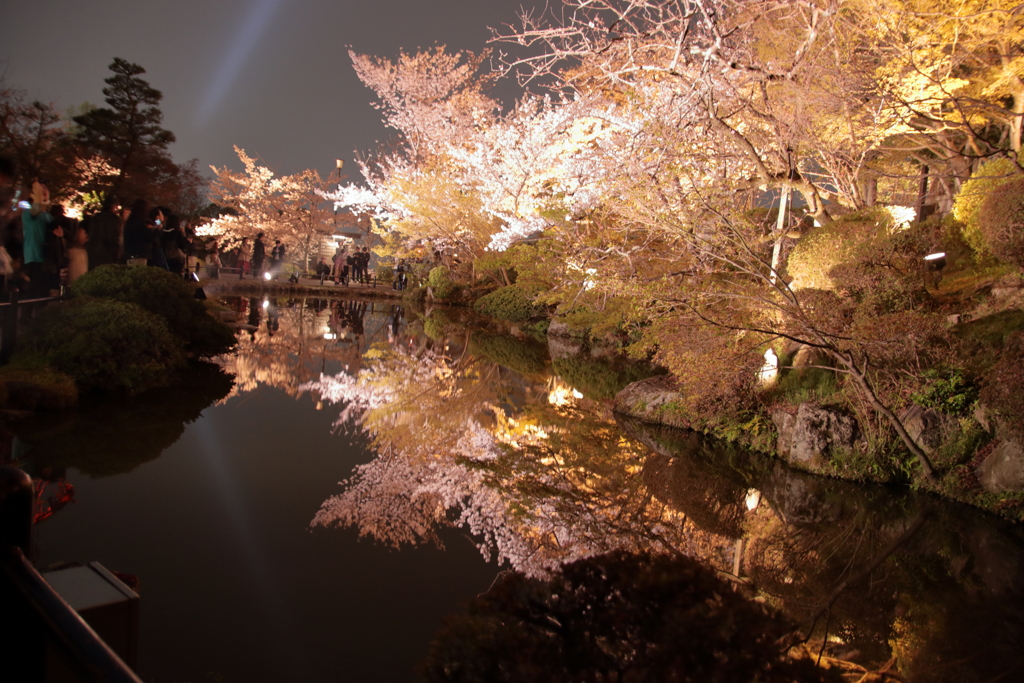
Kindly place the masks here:
POLYGON ((836 289, 833 268, 854 259, 870 243, 886 238, 892 216, 869 209, 811 228, 794 247, 786 265, 794 289, 836 289))

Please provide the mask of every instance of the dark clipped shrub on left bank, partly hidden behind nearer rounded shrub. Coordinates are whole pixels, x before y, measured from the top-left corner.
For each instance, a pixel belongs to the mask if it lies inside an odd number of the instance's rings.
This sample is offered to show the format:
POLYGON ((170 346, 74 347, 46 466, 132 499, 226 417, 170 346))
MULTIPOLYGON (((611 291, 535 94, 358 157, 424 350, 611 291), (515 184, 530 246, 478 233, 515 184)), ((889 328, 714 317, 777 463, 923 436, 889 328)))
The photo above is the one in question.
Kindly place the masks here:
POLYGON ((190 355, 210 357, 234 346, 231 329, 210 316, 180 278, 162 268, 103 265, 79 278, 71 289, 75 296, 134 303, 156 313, 190 355))

